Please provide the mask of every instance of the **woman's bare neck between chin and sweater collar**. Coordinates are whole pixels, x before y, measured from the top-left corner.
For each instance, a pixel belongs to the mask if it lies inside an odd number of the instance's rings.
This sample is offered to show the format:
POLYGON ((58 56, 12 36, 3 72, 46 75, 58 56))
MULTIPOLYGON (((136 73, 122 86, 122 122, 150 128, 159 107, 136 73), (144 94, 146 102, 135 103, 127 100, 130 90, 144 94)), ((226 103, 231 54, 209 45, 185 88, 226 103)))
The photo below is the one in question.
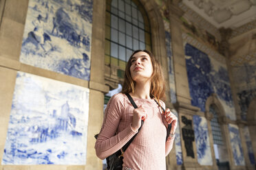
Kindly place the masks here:
POLYGON ((151 99, 150 97, 150 82, 136 83, 134 93, 131 93, 133 97, 140 99, 151 99))

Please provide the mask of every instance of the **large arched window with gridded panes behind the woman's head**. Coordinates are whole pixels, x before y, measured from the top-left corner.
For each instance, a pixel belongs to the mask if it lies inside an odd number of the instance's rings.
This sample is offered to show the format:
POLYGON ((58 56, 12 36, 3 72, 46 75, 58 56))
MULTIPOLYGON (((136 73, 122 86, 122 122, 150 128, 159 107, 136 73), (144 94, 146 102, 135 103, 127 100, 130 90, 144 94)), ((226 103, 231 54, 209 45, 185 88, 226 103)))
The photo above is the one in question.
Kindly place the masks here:
POLYGON ((105 64, 125 71, 136 49, 151 50, 149 19, 143 6, 134 0, 107 0, 105 64))

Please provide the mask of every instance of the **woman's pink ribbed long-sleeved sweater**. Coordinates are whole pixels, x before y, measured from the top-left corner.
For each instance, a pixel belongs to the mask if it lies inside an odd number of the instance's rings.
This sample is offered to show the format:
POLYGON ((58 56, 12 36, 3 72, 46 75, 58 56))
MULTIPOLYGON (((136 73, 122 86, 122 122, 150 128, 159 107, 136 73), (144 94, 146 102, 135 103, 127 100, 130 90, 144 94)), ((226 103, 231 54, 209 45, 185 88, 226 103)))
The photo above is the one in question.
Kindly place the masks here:
MULTIPOLYGON (((156 101, 138 98, 134 98, 134 101, 138 107, 145 108, 147 119, 125 151, 122 166, 134 170, 166 169, 165 156, 171 151, 175 136, 169 136, 165 141, 167 123, 156 101)), ((164 102, 160 101, 160 104, 165 107, 164 102)), ((137 133, 131 129, 133 110, 134 106, 125 94, 118 93, 111 97, 95 144, 98 158, 104 159, 114 154, 137 133)))

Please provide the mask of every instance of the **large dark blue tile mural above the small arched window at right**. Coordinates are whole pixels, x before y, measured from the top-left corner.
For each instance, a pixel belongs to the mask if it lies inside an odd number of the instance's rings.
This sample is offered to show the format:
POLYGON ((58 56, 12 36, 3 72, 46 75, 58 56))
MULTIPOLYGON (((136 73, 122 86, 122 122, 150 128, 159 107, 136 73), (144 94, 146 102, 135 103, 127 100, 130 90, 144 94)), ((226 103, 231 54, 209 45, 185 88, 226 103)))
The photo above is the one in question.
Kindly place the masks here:
POLYGON ((235 120, 235 108, 225 64, 217 62, 189 44, 185 45, 185 55, 191 104, 204 112, 206 99, 216 93, 226 116, 235 120))

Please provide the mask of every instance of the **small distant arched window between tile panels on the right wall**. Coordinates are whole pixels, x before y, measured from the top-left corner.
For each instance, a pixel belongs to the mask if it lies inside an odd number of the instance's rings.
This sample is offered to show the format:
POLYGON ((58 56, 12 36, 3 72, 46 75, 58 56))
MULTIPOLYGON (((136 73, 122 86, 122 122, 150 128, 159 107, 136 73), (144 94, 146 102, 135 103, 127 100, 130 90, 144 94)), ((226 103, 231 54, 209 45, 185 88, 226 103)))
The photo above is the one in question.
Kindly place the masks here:
POLYGON ((211 119, 211 130, 213 133, 213 143, 215 145, 224 145, 222 138, 222 130, 220 128, 220 123, 217 122, 217 108, 215 105, 211 104, 209 107, 209 112, 213 114, 213 119, 211 119))

